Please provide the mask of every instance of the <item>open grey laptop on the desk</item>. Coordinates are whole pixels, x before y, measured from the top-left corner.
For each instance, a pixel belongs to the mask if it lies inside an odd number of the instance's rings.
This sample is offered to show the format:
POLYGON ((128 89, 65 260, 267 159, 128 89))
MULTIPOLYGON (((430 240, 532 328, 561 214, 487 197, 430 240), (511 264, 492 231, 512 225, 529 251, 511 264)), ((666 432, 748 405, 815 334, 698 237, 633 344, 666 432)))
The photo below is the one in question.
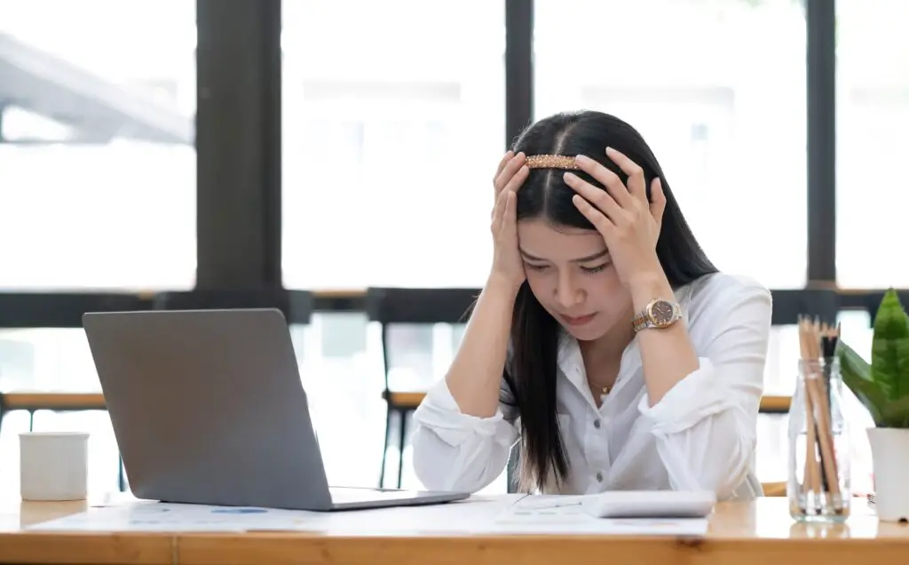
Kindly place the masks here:
POLYGON ((329 487, 280 310, 86 313, 83 325, 140 499, 354 510, 469 496, 329 487))

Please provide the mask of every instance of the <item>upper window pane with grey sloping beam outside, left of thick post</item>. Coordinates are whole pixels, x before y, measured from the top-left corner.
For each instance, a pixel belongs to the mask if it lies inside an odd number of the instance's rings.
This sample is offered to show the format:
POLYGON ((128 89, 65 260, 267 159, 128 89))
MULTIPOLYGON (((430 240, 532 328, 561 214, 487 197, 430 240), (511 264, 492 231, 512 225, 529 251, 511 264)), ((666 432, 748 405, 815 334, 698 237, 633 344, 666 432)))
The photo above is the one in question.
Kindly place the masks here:
POLYGON ((0 3, 0 288, 193 286, 194 49, 192 0, 0 3))

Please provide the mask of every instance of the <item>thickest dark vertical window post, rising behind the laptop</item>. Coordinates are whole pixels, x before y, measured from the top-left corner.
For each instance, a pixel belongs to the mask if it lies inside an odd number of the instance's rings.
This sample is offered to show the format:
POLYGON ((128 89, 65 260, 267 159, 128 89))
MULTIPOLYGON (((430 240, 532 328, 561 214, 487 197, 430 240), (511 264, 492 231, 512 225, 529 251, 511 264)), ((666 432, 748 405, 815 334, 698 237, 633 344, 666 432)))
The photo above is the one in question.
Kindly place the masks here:
POLYGON ((196 288, 279 289, 281 1, 196 0, 196 17, 196 288))

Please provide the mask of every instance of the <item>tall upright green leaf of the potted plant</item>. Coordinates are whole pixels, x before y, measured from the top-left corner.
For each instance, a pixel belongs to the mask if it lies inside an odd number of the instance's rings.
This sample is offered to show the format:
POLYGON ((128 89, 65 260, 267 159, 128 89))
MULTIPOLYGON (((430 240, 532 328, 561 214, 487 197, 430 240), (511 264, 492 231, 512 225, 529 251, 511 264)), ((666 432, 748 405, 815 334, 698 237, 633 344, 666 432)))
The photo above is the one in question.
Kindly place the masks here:
POLYGON ((909 319, 893 288, 884 294, 874 318, 871 378, 887 399, 909 393, 909 319))

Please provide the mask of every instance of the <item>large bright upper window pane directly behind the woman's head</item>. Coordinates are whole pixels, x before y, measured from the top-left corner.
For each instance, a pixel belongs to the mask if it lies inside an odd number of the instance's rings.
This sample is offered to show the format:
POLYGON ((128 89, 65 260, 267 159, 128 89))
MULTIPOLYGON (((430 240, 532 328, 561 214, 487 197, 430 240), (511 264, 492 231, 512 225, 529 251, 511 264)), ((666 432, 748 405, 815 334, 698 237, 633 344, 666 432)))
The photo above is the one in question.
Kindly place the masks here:
POLYGON ((803 287, 801 2, 534 5, 535 117, 582 108, 621 117, 654 149, 717 267, 803 287))

